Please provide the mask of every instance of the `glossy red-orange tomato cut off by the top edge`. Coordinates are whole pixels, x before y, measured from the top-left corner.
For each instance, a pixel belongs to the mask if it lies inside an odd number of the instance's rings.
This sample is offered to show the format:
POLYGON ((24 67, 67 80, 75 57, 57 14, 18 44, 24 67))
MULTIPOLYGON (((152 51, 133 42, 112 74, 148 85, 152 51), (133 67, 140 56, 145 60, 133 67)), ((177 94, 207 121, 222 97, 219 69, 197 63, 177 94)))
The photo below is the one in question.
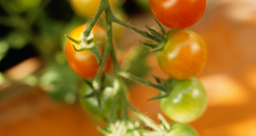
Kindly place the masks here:
POLYGON ((193 26, 203 16, 206 0, 149 0, 151 11, 163 25, 172 29, 193 26))

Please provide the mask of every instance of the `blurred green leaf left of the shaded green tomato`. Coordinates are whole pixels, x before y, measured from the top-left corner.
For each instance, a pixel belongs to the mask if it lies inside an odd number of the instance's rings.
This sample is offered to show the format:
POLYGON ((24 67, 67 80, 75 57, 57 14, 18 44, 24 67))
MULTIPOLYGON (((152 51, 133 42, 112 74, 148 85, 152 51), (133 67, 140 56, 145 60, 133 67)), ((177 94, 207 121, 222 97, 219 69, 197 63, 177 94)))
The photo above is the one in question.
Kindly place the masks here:
POLYGON ((51 64, 40 79, 40 86, 54 100, 73 104, 76 101, 80 78, 65 65, 51 64))

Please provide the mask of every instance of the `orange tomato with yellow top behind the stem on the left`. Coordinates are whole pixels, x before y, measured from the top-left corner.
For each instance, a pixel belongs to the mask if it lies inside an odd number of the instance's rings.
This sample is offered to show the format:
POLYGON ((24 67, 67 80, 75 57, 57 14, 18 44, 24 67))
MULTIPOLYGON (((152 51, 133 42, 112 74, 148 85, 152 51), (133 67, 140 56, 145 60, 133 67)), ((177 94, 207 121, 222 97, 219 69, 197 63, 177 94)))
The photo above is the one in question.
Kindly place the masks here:
MULTIPOLYGON (((85 25, 81 25, 75 28, 70 37, 75 40, 81 40, 81 34, 83 33, 85 25)), ((102 54, 106 44, 106 30, 95 25, 93 28, 94 39, 93 42, 100 48, 102 54)), ((99 65, 93 53, 90 50, 75 51, 74 47, 78 48, 78 45, 68 40, 66 44, 66 56, 68 64, 72 70, 83 78, 94 78, 98 72, 99 65)), ((109 56, 104 66, 104 72, 108 72, 112 69, 112 61, 109 56)))

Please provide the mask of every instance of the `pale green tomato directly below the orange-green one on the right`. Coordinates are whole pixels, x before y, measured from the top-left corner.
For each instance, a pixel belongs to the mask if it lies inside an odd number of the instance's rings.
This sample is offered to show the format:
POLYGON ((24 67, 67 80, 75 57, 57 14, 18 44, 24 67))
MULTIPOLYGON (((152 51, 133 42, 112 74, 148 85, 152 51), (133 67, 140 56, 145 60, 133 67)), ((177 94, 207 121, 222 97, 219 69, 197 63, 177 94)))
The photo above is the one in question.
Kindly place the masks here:
POLYGON ((207 96, 196 78, 169 79, 170 94, 160 99, 160 107, 170 119, 187 123, 199 118, 207 106, 207 96))

